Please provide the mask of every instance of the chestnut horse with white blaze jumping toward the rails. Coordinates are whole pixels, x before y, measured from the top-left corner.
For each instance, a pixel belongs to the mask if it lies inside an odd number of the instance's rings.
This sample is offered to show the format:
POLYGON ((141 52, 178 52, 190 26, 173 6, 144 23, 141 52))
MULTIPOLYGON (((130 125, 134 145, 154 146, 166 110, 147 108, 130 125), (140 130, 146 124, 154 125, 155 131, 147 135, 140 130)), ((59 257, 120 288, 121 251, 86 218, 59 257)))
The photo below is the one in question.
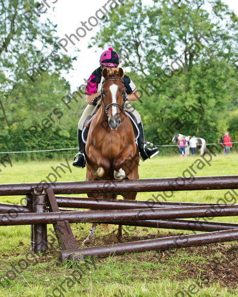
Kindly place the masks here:
MULTIPOLYGON (((132 123, 125 114, 126 89, 122 68, 104 69, 102 104, 94 115, 86 143, 86 180, 137 179, 140 160, 132 123)), ((108 182, 107 182, 108 184, 108 182)), ((90 193, 88 197, 134 200, 137 193, 90 193)), ((94 242, 96 223, 93 223, 83 244, 94 242)), ((122 225, 118 226, 116 238, 122 239, 122 225)))

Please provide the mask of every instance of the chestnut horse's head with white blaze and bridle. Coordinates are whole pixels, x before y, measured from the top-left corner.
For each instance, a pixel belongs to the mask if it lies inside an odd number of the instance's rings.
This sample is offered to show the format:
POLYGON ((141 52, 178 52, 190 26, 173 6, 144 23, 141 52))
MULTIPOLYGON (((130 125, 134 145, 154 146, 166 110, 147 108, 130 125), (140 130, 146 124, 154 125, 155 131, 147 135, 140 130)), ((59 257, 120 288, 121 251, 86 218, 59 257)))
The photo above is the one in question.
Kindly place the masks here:
POLYGON ((121 115, 126 101, 126 89, 122 80, 124 72, 122 68, 113 71, 103 70, 102 102, 104 111, 108 117, 108 124, 112 130, 116 130, 121 124, 121 115))

